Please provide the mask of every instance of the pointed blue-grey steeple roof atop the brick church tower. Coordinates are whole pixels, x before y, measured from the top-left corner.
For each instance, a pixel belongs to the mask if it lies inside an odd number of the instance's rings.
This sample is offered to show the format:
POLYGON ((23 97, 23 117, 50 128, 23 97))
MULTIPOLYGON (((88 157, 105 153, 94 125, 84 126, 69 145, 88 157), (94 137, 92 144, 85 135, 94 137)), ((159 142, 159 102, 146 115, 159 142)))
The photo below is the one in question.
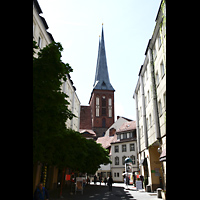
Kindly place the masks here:
POLYGON ((99 40, 99 50, 98 50, 97 66, 96 66, 93 89, 115 91, 115 89, 110 83, 109 74, 108 74, 103 26, 102 26, 102 33, 101 33, 101 41, 99 40))

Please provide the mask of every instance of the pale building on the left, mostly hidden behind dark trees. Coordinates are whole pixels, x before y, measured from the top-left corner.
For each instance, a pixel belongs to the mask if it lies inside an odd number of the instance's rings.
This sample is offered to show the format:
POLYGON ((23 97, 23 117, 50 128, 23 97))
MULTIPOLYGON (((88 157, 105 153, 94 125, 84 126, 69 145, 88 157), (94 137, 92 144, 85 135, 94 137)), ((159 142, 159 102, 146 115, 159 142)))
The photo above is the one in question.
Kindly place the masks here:
MULTIPOLYGON (((39 46, 36 53, 48 44, 54 42, 53 36, 47 31, 48 25, 45 18, 40 16, 41 13, 42 9, 38 1, 33 0, 33 40, 36 41, 39 46)), ((69 96, 67 98, 70 103, 68 108, 77 116, 77 118, 73 117, 72 120, 67 120, 66 127, 79 131, 80 101, 70 75, 67 75, 67 81, 63 82, 61 88, 62 91, 69 96)), ((33 192, 40 181, 42 181, 48 189, 56 188, 58 182, 58 168, 55 166, 47 166, 40 162, 35 163, 33 165, 33 192)))

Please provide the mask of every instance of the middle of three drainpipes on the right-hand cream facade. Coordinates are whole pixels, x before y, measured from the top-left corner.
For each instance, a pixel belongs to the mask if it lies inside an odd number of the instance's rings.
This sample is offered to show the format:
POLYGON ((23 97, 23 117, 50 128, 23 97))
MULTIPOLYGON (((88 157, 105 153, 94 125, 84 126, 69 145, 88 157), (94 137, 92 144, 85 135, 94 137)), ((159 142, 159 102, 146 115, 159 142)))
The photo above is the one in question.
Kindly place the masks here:
POLYGON ((140 75, 140 88, 142 95, 142 117, 143 117, 143 129, 144 129, 144 144, 145 148, 148 149, 148 138, 147 138, 147 124, 146 124, 146 110, 145 110, 145 99, 144 99, 144 84, 143 76, 140 75))

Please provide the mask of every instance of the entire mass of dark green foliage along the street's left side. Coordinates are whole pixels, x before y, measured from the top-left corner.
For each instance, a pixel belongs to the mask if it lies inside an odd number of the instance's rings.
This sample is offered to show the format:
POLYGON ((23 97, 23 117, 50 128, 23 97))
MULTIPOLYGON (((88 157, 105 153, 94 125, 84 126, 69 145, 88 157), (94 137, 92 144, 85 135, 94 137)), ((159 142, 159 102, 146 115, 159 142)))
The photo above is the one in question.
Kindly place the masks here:
MULTIPOLYGON (((33 42, 33 55, 35 49, 33 42)), ((53 42, 33 57, 33 163, 94 174, 100 164, 110 163, 109 152, 66 128, 67 119, 75 115, 61 90, 62 80, 72 72, 70 65, 61 61, 62 50, 60 43, 53 42)))

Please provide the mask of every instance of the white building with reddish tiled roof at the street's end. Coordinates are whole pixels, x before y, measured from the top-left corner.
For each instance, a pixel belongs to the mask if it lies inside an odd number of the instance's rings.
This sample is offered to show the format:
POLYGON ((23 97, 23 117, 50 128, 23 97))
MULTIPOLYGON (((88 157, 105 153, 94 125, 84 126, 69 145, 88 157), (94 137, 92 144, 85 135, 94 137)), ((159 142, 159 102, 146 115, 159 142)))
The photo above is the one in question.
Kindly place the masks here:
POLYGON ((125 159, 133 161, 132 172, 138 171, 136 122, 128 121, 116 131, 117 140, 111 143, 111 172, 114 182, 124 182, 125 159))

